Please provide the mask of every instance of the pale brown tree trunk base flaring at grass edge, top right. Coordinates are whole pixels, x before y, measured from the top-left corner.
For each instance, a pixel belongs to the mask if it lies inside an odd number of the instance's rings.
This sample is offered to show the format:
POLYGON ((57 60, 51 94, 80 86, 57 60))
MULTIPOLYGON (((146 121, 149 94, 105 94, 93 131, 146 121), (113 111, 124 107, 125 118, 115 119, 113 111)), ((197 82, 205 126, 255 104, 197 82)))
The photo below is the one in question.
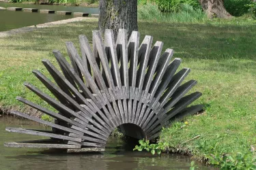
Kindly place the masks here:
POLYGON ((199 0, 208 18, 231 18, 224 7, 224 0, 199 0))

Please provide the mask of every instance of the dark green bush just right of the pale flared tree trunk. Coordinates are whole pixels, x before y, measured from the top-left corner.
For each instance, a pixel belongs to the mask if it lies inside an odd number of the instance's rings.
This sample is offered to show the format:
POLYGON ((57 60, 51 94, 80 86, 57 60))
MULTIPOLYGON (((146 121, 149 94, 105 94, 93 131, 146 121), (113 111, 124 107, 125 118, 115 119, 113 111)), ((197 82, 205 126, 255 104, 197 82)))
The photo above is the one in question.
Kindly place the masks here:
POLYGON ((224 5, 226 7, 227 12, 232 16, 242 16, 248 12, 251 4, 251 0, 225 0, 224 5))

